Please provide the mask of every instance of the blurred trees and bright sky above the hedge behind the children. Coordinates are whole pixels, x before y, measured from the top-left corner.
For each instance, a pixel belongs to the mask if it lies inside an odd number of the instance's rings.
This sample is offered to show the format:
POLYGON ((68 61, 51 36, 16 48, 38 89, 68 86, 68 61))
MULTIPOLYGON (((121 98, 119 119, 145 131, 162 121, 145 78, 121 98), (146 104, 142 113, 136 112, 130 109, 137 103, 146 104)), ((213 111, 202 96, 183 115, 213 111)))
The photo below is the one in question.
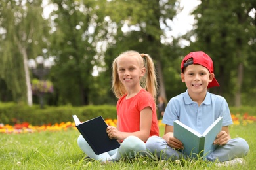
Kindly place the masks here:
POLYGON ((255 106, 255 0, 1 0, 0 102, 49 106, 116 105, 112 61, 150 54, 159 95, 186 90, 189 52, 213 59, 230 106, 255 106))

